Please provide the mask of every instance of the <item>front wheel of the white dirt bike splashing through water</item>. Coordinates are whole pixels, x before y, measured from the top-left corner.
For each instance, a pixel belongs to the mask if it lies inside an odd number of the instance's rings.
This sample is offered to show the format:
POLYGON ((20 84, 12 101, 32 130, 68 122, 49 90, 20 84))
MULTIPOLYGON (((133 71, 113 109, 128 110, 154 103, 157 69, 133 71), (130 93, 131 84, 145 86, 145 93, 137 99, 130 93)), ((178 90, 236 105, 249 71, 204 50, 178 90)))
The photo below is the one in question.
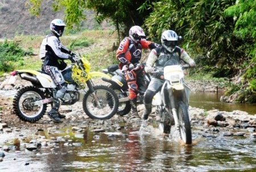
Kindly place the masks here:
POLYGON ((178 118, 181 139, 185 142, 185 144, 192 144, 188 106, 184 102, 179 103, 178 118))

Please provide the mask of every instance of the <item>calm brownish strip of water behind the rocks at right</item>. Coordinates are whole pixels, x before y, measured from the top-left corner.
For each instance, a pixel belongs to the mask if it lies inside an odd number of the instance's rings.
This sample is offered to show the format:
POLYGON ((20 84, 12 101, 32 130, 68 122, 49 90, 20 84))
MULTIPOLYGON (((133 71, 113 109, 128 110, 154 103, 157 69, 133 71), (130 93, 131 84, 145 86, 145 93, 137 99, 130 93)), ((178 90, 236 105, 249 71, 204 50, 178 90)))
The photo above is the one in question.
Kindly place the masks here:
POLYGON ((256 104, 231 104, 220 102, 222 94, 217 93, 192 93, 189 98, 191 107, 209 110, 232 112, 236 110, 245 111, 248 114, 256 114, 256 104))

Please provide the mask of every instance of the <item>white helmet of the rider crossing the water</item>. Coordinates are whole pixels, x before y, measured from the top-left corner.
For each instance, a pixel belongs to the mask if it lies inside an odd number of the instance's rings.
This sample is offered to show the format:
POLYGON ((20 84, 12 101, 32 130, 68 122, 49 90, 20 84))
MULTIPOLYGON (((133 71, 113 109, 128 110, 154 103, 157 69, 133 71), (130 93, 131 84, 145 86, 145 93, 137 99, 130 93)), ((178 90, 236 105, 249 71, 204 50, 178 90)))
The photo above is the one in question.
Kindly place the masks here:
POLYGON ((178 39, 175 31, 167 30, 162 33, 161 43, 168 52, 172 53, 177 46, 178 39))

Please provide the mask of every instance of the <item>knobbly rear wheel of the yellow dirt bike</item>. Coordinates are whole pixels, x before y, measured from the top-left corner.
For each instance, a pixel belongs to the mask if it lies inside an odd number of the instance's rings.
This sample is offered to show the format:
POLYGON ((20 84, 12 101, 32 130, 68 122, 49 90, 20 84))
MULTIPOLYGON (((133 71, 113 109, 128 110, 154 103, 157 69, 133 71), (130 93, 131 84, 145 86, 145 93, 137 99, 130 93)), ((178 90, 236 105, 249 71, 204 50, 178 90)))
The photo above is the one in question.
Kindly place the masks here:
POLYGON ((44 98, 44 92, 37 87, 22 87, 13 99, 14 113, 23 121, 30 123, 38 121, 46 112, 47 104, 35 104, 35 102, 44 98))

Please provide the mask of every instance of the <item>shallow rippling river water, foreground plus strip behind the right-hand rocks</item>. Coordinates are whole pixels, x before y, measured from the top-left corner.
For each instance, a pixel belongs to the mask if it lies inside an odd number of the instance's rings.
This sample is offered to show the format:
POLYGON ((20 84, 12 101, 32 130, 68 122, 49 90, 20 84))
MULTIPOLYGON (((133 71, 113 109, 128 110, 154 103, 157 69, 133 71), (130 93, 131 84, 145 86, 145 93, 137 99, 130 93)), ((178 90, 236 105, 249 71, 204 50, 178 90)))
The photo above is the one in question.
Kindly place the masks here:
MULTIPOLYGON (((191 96, 190 105, 256 114, 253 105, 220 103, 218 97, 196 93, 191 96)), ((46 133, 40 132, 40 135, 46 133)), ((0 140, 13 135, 3 134, 0 140)), ((195 126, 192 146, 177 140, 174 130, 170 137, 163 136, 155 124, 144 128, 125 126, 118 132, 100 133, 79 133, 64 128, 63 132, 46 136, 64 139, 55 146, 32 152, 24 146, 11 147, 0 162, 0 171, 256 171, 256 139, 250 133, 243 137, 224 137, 195 126), (67 135, 69 139, 65 139, 67 135)))

